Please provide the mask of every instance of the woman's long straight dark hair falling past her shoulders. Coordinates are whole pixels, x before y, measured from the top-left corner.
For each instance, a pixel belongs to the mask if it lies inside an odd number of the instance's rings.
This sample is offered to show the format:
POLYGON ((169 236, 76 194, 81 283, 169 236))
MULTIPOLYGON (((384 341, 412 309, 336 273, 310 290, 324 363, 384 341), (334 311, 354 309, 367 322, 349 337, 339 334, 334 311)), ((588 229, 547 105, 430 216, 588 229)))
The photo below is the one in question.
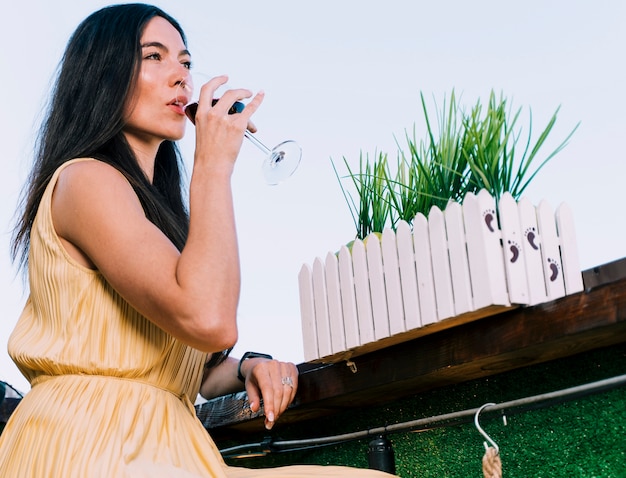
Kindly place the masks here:
POLYGON ((176 144, 161 144, 150 183, 122 133, 124 106, 139 74, 141 35, 156 16, 169 21, 187 43, 176 20, 141 3, 98 10, 70 38, 20 203, 23 212, 11 250, 20 266, 28 262, 30 231, 52 175, 65 162, 80 157, 93 157, 118 169, 134 188, 146 217, 179 250, 185 244, 189 216, 182 199, 182 161, 176 144))

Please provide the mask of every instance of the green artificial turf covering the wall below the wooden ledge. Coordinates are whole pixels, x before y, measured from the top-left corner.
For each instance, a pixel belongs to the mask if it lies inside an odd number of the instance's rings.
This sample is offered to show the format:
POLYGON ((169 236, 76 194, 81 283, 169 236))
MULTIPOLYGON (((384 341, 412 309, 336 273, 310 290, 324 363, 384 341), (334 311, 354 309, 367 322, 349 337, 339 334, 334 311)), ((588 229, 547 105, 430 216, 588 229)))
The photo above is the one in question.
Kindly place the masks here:
MULTIPOLYGON (((274 440, 307 439, 367 430, 392 423, 477 408, 557 391, 626 373, 626 344, 433 390, 385 406, 355 409, 314 423, 276 427, 274 440)), ((500 446, 503 476, 626 477, 626 387, 546 408, 485 415, 481 425, 500 446)), ((256 437, 257 439, 259 437, 256 437)), ((482 474, 483 437, 470 420, 388 436, 396 474, 409 477, 476 477, 482 474)), ((253 443, 250 437, 248 443, 253 443)), ((287 464, 338 464, 367 468, 369 440, 262 458, 232 465, 266 468, 287 464)), ((223 448, 220 444, 220 448, 223 448)))

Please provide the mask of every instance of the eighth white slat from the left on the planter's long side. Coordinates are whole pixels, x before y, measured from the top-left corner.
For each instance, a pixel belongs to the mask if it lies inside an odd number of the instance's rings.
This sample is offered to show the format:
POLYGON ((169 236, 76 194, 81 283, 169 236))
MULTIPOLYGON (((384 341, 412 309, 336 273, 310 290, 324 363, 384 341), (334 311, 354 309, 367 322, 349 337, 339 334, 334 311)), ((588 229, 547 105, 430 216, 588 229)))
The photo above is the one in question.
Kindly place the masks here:
POLYGON ((419 328, 422 324, 417 293, 413 236, 411 226, 406 221, 400 221, 396 226, 396 243, 398 247, 400 283, 402 286, 402 303, 404 305, 404 324, 407 330, 413 330, 419 328))

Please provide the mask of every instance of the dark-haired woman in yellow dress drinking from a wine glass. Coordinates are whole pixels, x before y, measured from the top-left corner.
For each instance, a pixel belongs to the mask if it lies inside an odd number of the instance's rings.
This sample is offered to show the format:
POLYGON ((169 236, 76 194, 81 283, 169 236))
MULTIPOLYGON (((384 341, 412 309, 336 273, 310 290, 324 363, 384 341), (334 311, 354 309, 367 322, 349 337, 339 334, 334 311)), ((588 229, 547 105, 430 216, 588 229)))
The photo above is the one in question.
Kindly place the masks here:
POLYGON ((245 389, 271 428, 298 372, 228 357, 240 280, 230 179, 263 93, 229 90, 212 106, 227 78, 202 87, 187 213, 174 141, 190 65, 178 23, 143 4, 92 14, 67 45, 14 239, 30 296, 9 353, 32 388, 0 437, 1 474, 383 476, 228 467, 195 416, 198 391, 245 389))

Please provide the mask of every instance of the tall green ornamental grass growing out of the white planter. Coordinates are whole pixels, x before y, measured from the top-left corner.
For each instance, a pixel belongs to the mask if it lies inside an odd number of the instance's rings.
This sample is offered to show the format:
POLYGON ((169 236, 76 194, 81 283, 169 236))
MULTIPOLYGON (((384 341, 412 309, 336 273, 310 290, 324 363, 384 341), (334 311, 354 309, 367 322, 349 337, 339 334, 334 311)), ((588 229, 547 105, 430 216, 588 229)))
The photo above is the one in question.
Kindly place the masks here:
POLYGON ((416 214, 428 216, 432 207, 443 210, 449 201, 462 203, 468 192, 486 189, 496 203, 505 192, 519 199, 539 170, 567 145, 578 128, 577 124, 538 163, 539 152, 560 108, 534 143, 531 112, 528 135, 522 148, 516 149, 521 137, 521 108, 512 113, 502 95, 496 98, 492 91, 486 106, 478 100, 465 112, 452 91, 447 106, 444 100, 441 111, 435 107, 436 128, 423 94, 421 103, 425 138, 417 139, 415 126, 411 135, 405 132, 406 147, 403 149, 396 142, 398 153, 393 169, 388 154, 378 152, 370 159, 361 152, 358 172, 353 172, 344 157, 347 175, 340 176, 331 159, 359 239, 372 232, 380 233, 385 227, 395 230, 400 220, 412 224, 416 214), (346 181, 351 188, 344 185, 346 181))

